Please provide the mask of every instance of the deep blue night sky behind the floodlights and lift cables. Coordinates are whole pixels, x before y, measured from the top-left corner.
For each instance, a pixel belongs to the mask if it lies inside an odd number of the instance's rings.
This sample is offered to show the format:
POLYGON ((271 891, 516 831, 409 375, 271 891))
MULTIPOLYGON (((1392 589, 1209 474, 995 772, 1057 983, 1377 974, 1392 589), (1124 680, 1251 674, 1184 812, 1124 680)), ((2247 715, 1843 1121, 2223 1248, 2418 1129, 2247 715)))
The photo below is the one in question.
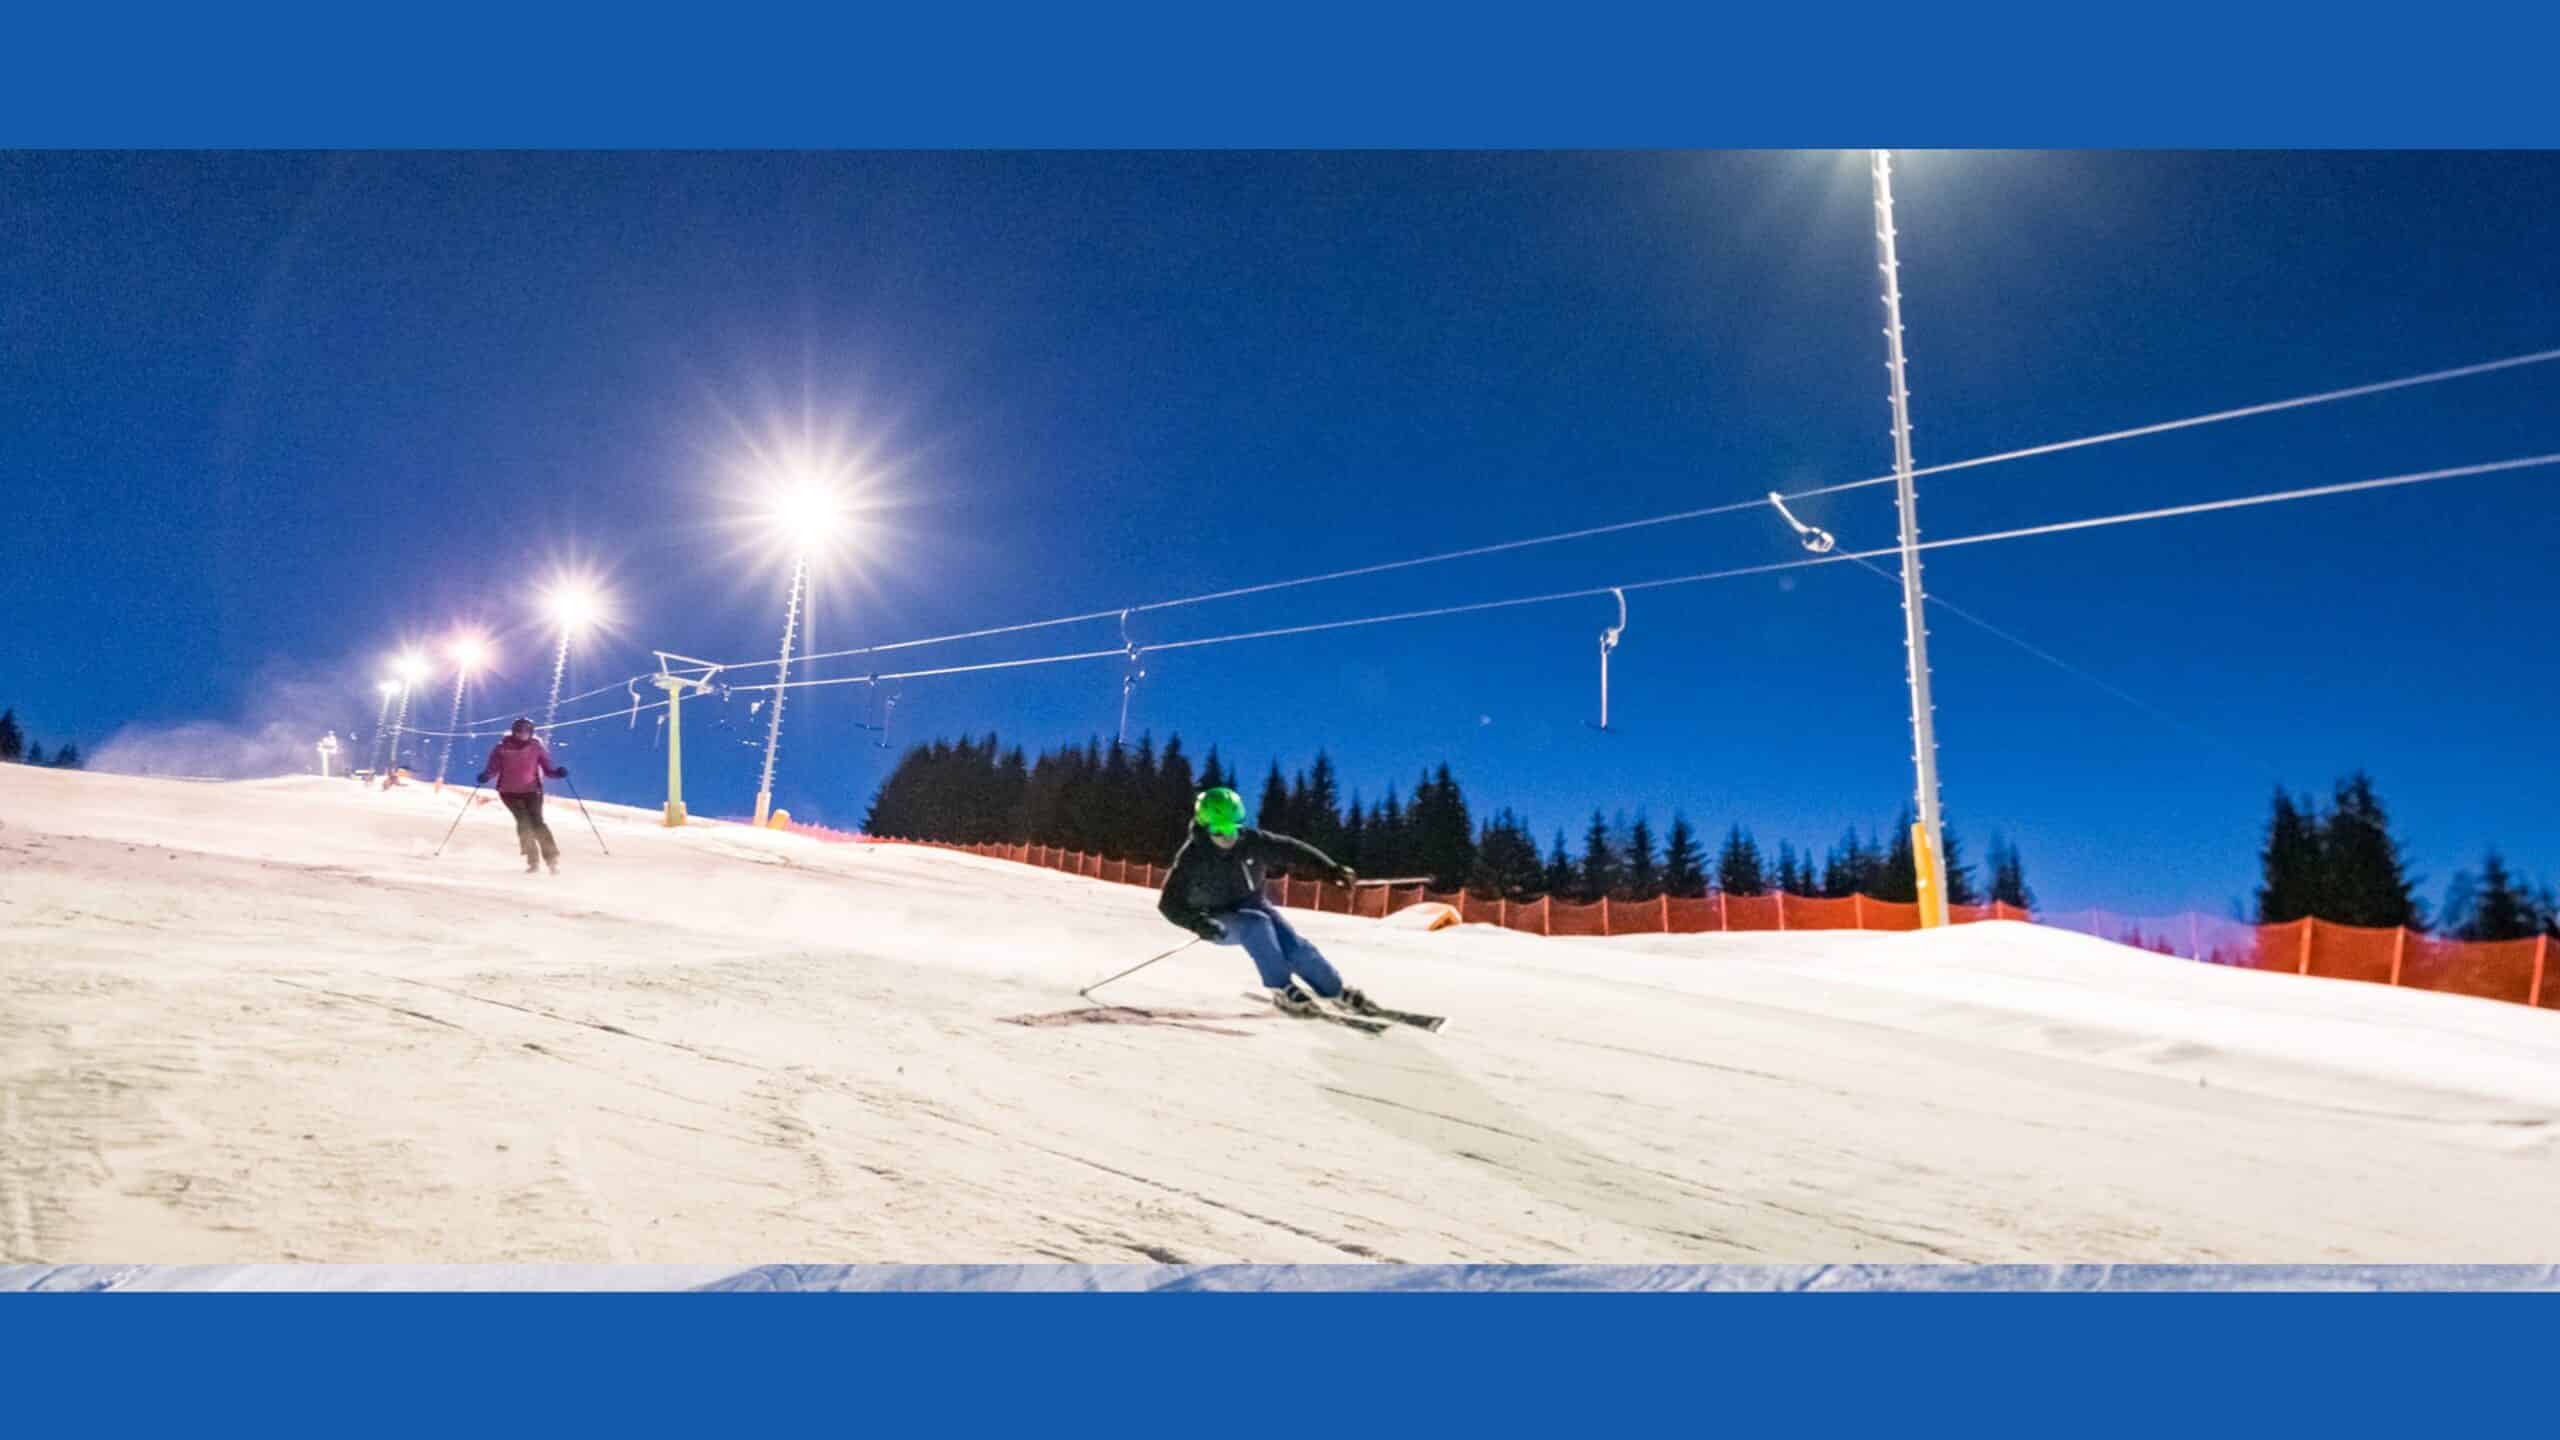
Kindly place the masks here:
MULTIPOLYGON (((2560 159, 1910 154, 1920 464, 2560 346, 2560 159)), ((538 702, 530 594, 614 577, 599 682, 760 659, 786 571, 740 471, 868 456, 817 643, 1034 620, 1889 466, 1864 156, 0 156, 0 705, 371 728, 404 638, 481 620, 538 702), (307 682, 307 684, 300 684, 307 682), (317 689, 315 689, 317 687, 317 689), (317 694, 317 700, 315 700, 317 694), (330 694, 343 694, 330 702, 330 694)), ((1923 482, 1961 536, 2560 451, 2560 366, 1923 482)), ((2368 766, 2435 894, 2560 869, 2555 471, 1930 559, 1951 822, 2056 907, 2222 910, 2268 789, 2368 766)), ((1892 538, 1889 489, 1810 502, 1892 538)), ((1142 641, 1797 556, 1761 512, 1147 615, 1142 641)), ((1910 794, 1894 589, 1848 566, 1152 656, 1134 728, 1375 797, 1452 761, 1541 835, 1674 807, 1825 846, 1910 794)), ((914 664, 1116 643, 1042 630, 914 664)), ((829 674, 842 674, 835 666, 829 674)), ((763 676, 740 676, 763 679, 763 676)), ((899 738, 1108 733, 1119 666, 909 682, 899 738)), ((440 720, 443 700, 428 702, 440 720)), ((858 687, 799 692, 778 799, 850 822, 858 687)), ((699 717, 719 710, 696 710, 699 717)), ((745 700, 689 797, 740 812, 745 700)), ((653 799, 650 728, 571 733, 653 799)), ((466 769, 471 761, 461 761, 466 769)))

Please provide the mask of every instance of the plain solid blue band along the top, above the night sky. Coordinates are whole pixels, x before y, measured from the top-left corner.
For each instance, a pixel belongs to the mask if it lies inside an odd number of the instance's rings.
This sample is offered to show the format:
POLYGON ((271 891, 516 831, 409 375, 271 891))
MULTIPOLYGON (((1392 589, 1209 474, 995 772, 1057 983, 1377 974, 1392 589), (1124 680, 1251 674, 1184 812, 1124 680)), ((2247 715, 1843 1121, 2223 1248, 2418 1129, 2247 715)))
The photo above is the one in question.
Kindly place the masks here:
POLYGON ((2547 8, 166 8, 5 146, 2560 146, 2547 8))

